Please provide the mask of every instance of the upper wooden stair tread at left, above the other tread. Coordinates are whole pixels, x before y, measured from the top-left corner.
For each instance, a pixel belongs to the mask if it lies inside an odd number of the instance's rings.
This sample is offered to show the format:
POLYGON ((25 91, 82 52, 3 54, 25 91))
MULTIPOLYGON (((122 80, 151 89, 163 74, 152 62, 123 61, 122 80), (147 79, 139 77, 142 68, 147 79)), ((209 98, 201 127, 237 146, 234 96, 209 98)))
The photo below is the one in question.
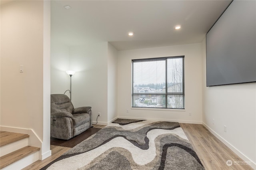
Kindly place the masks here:
POLYGON ((0 146, 4 146, 28 137, 28 134, 0 131, 0 146))

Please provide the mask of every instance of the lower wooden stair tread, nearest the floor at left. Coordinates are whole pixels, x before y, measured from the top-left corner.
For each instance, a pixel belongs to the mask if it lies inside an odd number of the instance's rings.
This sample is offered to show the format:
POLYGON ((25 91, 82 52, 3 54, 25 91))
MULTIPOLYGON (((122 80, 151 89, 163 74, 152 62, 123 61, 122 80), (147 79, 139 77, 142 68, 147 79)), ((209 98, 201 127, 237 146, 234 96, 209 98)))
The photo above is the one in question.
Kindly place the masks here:
POLYGON ((0 169, 22 159, 26 156, 40 150, 40 148, 34 146, 25 146, 24 148, 18 149, 14 152, 6 154, 0 157, 0 169))

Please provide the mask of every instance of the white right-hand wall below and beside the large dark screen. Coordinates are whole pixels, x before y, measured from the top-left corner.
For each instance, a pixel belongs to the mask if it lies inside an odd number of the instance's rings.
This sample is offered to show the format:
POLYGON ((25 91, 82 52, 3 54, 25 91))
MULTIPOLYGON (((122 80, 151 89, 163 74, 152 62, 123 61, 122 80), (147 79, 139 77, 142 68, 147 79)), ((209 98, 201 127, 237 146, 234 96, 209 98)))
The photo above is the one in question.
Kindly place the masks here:
POLYGON ((256 83, 206 87, 205 40, 202 45, 203 124, 256 168, 256 83))

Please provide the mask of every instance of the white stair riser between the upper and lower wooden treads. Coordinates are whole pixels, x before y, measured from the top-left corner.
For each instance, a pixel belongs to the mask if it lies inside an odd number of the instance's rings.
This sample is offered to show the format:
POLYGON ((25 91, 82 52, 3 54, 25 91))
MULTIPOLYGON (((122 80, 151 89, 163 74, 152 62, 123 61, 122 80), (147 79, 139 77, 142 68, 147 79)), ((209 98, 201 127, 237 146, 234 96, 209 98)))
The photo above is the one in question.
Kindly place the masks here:
POLYGON ((11 144, 7 144, 4 146, 1 146, 0 148, 0 156, 4 156, 6 154, 9 154, 15 150, 18 150, 20 148, 23 148, 25 146, 28 146, 28 138, 24 138, 22 140, 13 142, 11 144))

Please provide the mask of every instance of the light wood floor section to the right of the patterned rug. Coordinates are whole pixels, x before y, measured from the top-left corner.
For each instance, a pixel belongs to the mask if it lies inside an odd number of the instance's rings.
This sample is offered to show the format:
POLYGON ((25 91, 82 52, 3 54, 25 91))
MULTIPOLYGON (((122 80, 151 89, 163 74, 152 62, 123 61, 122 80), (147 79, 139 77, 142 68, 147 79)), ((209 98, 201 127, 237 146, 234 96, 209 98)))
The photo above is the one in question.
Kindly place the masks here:
POLYGON ((206 170, 253 170, 249 165, 232 164, 227 160, 243 161, 203 125, 180 123, 206 170))

